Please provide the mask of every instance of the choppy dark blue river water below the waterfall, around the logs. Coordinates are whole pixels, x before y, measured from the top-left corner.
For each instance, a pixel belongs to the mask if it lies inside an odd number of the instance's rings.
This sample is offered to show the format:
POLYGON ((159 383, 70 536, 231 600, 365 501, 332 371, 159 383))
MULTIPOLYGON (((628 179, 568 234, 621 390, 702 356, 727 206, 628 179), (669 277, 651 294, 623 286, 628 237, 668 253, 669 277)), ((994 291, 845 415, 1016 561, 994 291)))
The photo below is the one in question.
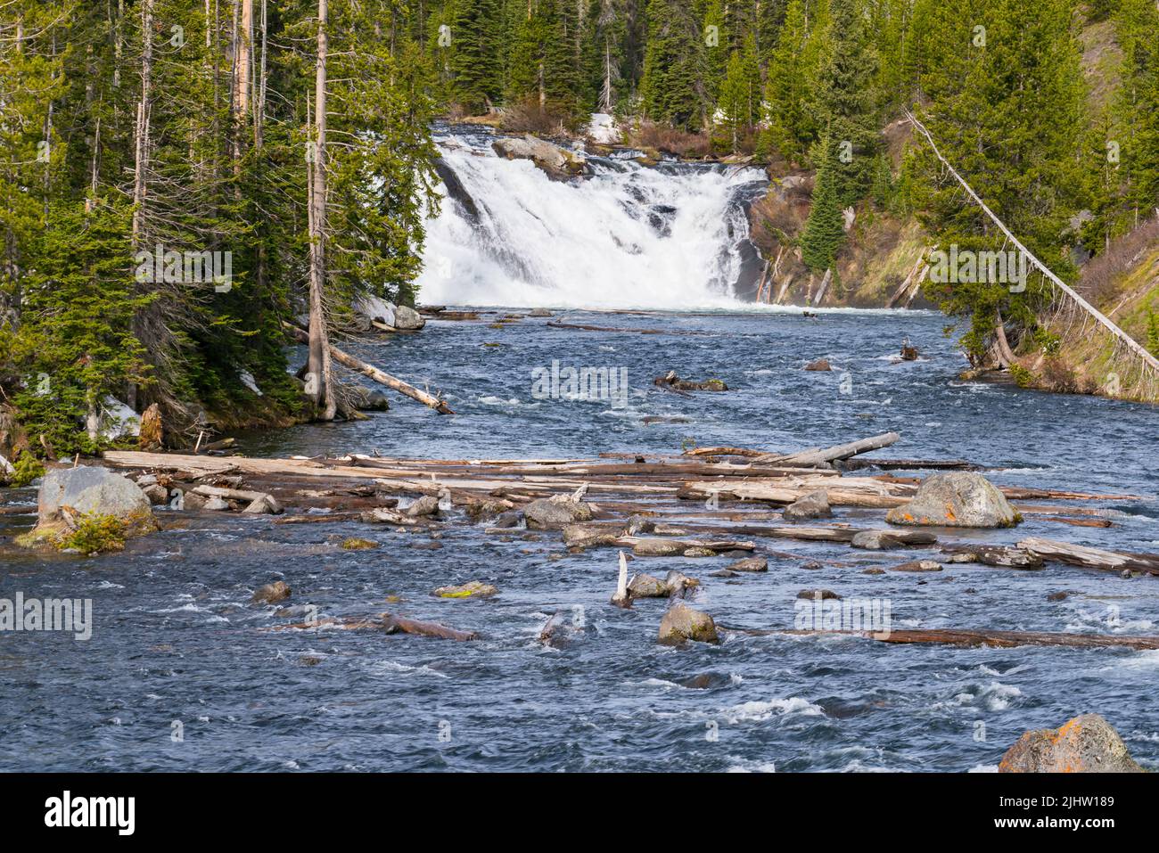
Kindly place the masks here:
MULTIPOLYGON (((566 316, 707 334, 564 330, 539 319, 502 329, 431 322, 420 335, 352 349, 440 389, 457 415, 400 399, 369 422, 248 437, 246 451, 591 457, 673 452, 686 442, 794 450, 897 430, 902 440, 879 455, 965 458, 996 468, 989 476, 1004 484, 1159 491, 1154 409, 960 381, 964 362, 934 314, 566 316), (923 358, 895 364, 906 336, 923 358), (834 371, 801 370, 818 356, 834 371), (626 369, 625 403, 533 399, 531 371, 553 359, 626 369), (730 391, 684 398, 654 387, 653 378, 670 369, 719 377, 730 391), (646 424, 648 416, 679 422, 646 424)), ((8 497, 31 502, 35 493, 8 497)), ((1016 531, 972 538, 1045 535, 1159 551, 1153 497, 1094 505, 1115 526, 1028 518, 1016 531)), ((861 513, 838 515, 857 523, 861 513)), ((0 518, 5 534, 30 523, 0 518)), ((1023 730, 1083 712, 1103 714, 1144 766, 1159 768, 1156 651, 735 634, 720 646, 677 650, 655 642, 663 600, 629 611, 608 606, 613 552, 552 560, 563 551, 557 533, 525 539, 516 531, 500 541, 482 525, 452 524, 431 549, 424 535, 362 524, 184 518, 123 554, 87 560, 34 559, 7 541, 0 546, 0 597, 90 598, 95 622, 87 642, 0 635, 0 768, 970 771, 993 768, 1023 730), (347 553, 337 542, 349 535, 382 546, 347 553), (248 602, 274 578, 293 588, 291 603, 314 604, 323 617, 389 606, 483 639, 267 632, 290 620, 248 602), (429 595, 469 579, 501 593, 429 595), (388 596, 402 602, 387 605, 388 596), (560 608, 582 613, 585 630, 570 648, 548 649, 535 635, 560 608), (706 686, 683 686, 693 676, 707 676, 706 686)), ((655 566, 700 577, 697 606, 726 625, 792 627, 796 592, 819 586, 888 599, 895 628, 1159 634, 1154 577, 1060 566, 874 576, 862 569, 899 562, 897 554, 768 545, 857 564, 810 569, 774 556, 767 574, 728 581, 709 577, 723 557, 655 566), (1060 590, 1073 595, 1048 600, 1060 590)))

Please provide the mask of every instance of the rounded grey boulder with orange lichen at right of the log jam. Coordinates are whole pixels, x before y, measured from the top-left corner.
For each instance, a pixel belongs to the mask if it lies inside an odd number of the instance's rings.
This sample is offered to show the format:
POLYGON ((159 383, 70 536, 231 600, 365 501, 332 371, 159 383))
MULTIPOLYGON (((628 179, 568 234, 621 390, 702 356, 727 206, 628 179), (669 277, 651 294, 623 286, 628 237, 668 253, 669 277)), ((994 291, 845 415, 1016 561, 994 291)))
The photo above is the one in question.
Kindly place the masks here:
POLYGON ((891 509, 885 520, 946 527, 1013 527, 1022 517, 986 477, 955 471, 926 477, 913 500, 891 509))

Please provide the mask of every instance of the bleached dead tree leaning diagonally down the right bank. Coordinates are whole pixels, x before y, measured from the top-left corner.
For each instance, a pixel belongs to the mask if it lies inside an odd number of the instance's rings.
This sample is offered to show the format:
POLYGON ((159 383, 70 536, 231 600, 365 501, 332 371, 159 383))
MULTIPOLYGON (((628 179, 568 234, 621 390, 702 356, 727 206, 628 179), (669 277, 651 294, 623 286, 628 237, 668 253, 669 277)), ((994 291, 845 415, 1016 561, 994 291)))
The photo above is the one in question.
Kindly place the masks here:
POLYGON ((1035 257, 1006 224, 999 219, 977 192, 965 182, 949 161, 942 156, 934 143, 933 136, 917 117, 909 110, 905 117, 930 143, 930 148, 942 166, 954 176, 967 195, 982 209, 983 213, 998 227, 1026 258, 1029 265, 1042 274, 1043 278, 1051 284, 1052 298, 1045 306, 1048 314, 1047 325, 1058 330, 1066 338, 1089 340, 1094 335, 1106 338, 1106 343, 1100 348, 1100 352, 1109 349, 1107 358, 1107 374, 1102 385, 1102 391, 1109 396, 1124 395, 1127 388, 1134 388, 1131 396, 1138 396, 1147 402, 1159 402, 1159 359, 1156 359, 1146 348, 1138 341, 1121 329, 1110 318, 1095 308, 1084 299, 1073 287, 1056 276, 1042 261, 1035 257))

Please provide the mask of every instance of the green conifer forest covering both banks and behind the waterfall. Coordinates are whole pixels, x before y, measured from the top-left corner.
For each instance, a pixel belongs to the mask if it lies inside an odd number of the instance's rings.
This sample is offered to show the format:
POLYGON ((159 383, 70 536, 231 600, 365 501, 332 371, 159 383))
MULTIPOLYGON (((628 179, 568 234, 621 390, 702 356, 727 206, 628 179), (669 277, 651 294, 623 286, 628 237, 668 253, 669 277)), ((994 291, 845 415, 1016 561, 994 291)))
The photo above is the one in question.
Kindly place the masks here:
MULTIPOLYGON (((414 301, 437 203, 430 123, 444 115, 582 133, 604 111, 636 144, 807 173, 800 232, 773 238, 818 278, 858 236, 847 209, 858 228, 891 219, 932 243, 1004 248, 927 146, 891 146, 883 129, 904 110, 1074 280, 1079 261, 1159 205, 1159 10, 1151 0, 8 0, 5 416, 36 454, 95 450, 115 401, 137 413, 156 403, 187 438, 206 424, 341 416, 328 340, 360 294, 414 301), (1093 27, 1109 45, 1098 87, 1084 72, 1093 27), (304 315, 299 382, 283 323, 304 315)), ((1057 347, 1038 322, 1043 287, 926 292, 967 321, 963 343, 981 359, 996 325, 1015 348, 1057 347)))

